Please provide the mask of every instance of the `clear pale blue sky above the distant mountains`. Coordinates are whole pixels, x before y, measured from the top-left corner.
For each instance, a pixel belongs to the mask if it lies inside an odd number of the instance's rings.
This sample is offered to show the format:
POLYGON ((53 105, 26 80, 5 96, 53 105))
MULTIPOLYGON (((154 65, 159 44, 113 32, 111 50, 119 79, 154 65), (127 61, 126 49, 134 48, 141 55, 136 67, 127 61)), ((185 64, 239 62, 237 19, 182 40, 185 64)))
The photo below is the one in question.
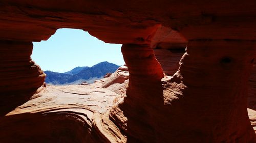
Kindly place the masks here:
POLYGON ((67 72, 108 61, 123 65, 121 44, 109 44, 83 30, 60 28, 47 41, 33 42, 32 60, 42 70, 67 72))

